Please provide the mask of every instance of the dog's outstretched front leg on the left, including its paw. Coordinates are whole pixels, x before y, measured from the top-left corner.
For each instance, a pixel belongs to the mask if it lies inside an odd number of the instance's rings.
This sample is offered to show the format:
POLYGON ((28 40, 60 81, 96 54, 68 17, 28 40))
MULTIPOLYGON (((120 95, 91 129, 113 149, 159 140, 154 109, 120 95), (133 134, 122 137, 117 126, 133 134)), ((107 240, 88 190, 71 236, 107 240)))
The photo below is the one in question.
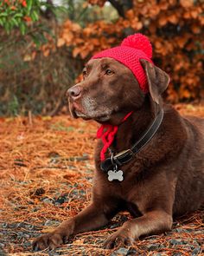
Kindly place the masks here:
POLYGON ((104 209, 102 203, 101 205, 92 203, 92 205, 86 207, 86 209, 72 219, 63 221, 54 232, 46 233, 37 238, 33 243, 33 249, 35 251, 46 248, 54 249, 57 246, 66 243, 70 235, 91 231, 101 226, 105 226, 111 218, 111 209, 109 210, 107 207, 104 209), (107 215, 105 213, 107 213, 107 215))

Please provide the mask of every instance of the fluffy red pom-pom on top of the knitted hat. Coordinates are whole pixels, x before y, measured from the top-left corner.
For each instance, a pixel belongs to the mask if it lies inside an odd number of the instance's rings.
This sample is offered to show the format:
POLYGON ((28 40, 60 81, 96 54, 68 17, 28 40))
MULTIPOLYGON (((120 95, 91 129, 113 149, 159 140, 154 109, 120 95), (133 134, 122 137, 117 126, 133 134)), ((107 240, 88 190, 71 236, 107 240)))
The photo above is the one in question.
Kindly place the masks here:
POLYGON ((121 46, 127 46, 134 49, 142 50, 149 58, 152 57, 152 47, 150 40, 147 36, 143 36, 140 33, 127 36, 121 43, 121 46))

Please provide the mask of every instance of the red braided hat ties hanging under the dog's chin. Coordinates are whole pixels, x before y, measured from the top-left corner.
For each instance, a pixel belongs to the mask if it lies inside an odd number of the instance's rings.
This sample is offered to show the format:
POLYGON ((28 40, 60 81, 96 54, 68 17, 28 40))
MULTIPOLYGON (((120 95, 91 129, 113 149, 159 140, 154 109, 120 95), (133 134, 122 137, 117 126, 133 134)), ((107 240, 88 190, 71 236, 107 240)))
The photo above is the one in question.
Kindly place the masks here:
MULTIPOLYGON (((124 122, 130 115, 132 111, 124 116, 122 122, 124 122)), ((103 141, 104 147, 100 151, 100 160, 105 161, 105 152, 112 145, 114 137, 118 132, 118 125, 111 124, 102 124, 99 130, 97 131, 97 138, 103 141)))

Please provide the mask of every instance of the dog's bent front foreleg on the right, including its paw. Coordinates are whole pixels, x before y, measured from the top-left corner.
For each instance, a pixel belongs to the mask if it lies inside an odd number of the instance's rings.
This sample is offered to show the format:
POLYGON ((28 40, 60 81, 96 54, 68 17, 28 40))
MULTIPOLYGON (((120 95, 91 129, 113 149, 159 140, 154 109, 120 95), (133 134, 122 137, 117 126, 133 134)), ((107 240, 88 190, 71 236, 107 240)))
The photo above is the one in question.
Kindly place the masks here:
POLYGON ((170 214, 162 210, 151 211, 139 218, 126 221, 117 232, 105 241, 105 248, 131 246, 134 240, 137 240, 140 236, 169 231, 171 226, 172 216, 170 214))

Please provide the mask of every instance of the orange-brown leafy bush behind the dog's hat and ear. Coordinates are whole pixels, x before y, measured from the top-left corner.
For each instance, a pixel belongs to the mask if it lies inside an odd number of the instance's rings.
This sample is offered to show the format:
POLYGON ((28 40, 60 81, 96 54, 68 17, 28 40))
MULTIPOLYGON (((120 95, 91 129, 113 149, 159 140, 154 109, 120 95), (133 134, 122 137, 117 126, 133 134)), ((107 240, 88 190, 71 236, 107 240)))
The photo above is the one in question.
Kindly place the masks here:
MULTIPOLYGON (((88 2, 102 7, 106 1, 88 2)), ((117 45, 124 36, 142 32, 150 36, 156 65, 171 76, 167 99, 178 102, 204 97, 203 1, 131 2, 133 7, 115 23, 98 21, 81 28, 79 24, 67 20, 61 28, 58 47, 71 47, 73 57, 80 56, 86 60, 101 49, 117 45)))

